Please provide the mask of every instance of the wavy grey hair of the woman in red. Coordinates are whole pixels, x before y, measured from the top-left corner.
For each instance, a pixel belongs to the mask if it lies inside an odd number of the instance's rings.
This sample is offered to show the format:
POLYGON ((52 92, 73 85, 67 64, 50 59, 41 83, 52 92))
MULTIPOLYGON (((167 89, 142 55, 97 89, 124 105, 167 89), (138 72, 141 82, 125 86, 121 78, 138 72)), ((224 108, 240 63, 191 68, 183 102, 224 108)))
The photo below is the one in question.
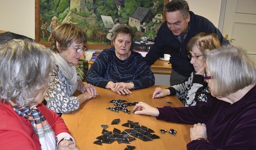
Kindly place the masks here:
POLYGON ((52 52, 28 39, 12 39, 0 48, 0 99, 18 107, 29 106, 48 86, 55 66, 52 52))

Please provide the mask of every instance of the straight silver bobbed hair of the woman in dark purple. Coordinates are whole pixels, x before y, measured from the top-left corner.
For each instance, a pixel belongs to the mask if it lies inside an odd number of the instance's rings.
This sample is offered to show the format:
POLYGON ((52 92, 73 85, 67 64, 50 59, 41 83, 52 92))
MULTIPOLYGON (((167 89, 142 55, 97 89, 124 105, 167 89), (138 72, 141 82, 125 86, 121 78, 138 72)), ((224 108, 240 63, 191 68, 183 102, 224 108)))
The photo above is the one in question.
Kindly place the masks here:
POLYGON ((226 45, 205 52, 214 96, 224 97, 256 83, 256 65, 242 47, 226 45))

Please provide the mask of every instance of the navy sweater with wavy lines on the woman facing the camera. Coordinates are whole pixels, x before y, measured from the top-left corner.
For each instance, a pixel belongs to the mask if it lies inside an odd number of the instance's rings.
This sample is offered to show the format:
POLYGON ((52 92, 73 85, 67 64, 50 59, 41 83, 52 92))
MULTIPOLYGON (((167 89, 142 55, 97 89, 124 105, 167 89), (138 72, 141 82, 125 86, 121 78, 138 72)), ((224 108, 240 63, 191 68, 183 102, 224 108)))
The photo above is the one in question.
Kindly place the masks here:
POLYGON ((102 88, 106 88, 109 81, 132 81, 134 89, 151 87, 155 84, 154 74, 140 53, 131 52, 126 60, 120 60, 114 48, 104 49, 88 70, 86 81, 102 88))

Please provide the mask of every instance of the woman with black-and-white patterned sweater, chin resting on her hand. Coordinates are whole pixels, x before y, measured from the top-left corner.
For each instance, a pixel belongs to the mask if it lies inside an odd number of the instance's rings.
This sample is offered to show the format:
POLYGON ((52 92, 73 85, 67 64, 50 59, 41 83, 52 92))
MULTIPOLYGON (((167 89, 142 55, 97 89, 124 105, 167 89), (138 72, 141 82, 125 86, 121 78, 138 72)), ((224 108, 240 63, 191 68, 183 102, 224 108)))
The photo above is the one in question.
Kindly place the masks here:
POLYGON ((188 57, 195 71, 183 83, 173 85, 167 89, 157 87, 152 99, 166 95, 176 95, 179 99, 186 99, 185 106, 207 102, 210 98, 210 91, 203 78, 206 62, 204 50, 218 47, 220 47, 220 40, 216 34, 201 32, 191 38, 188 41, 187 50, 190 52, 188 57))

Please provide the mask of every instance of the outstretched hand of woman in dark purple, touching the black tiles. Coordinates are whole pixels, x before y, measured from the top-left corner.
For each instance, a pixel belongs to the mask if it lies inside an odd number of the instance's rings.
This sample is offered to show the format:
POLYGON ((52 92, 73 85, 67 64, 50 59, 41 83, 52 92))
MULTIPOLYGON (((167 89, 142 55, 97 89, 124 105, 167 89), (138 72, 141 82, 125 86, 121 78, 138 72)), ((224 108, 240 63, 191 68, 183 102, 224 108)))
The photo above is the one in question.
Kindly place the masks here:
POLYGON ((135 105, 134 109, 132 111, 135 111, 134 114, 147 114, 151 116, 158 116, 159 111, 157 108, 154 108, 147 103, 139 102, 138 104, 135 105), (138 109, 138 110, 137 110, 138 109), (135 111, 137 110, 137 111, 135 111))

